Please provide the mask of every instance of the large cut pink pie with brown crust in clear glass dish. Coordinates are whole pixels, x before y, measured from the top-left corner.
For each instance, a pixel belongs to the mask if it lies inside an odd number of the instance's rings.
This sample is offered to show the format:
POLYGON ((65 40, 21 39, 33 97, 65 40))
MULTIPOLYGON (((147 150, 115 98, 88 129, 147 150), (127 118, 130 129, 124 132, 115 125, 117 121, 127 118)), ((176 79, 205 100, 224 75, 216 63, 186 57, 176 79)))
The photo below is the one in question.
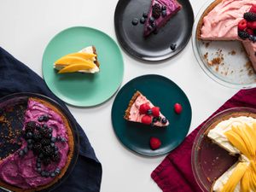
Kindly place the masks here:
POLYGON ((241 41, 256 71, 256 37, 253 37, 256 36, 256 30, 253 30, 251 38, 239 36, 239 23, 253 6, 256 6, 256 0, 216 0, 202 15, 197 36, 203 40, 241 41))

